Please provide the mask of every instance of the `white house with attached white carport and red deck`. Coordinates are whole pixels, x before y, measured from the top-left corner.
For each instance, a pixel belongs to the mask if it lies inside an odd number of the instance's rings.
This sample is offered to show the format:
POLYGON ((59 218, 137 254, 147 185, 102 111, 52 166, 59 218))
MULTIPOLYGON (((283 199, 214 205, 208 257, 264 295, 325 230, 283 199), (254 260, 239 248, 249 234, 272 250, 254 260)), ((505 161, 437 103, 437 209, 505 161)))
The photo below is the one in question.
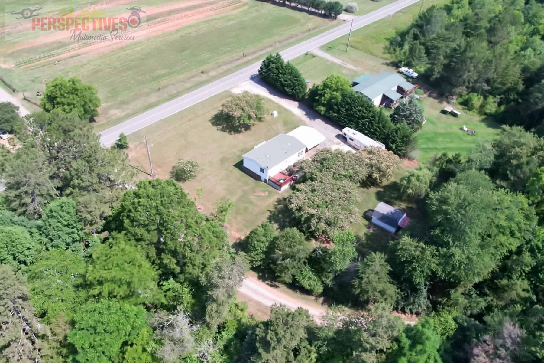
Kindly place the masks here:
POLYGON ((253 150, 246 152, 243 155, 246 173, 276 189, 288 188, 294 176, 289 175, 286 169, 304 158, 307 150, 325 140, 325 137, 314 128, 301 127, 263 141, 253 150))

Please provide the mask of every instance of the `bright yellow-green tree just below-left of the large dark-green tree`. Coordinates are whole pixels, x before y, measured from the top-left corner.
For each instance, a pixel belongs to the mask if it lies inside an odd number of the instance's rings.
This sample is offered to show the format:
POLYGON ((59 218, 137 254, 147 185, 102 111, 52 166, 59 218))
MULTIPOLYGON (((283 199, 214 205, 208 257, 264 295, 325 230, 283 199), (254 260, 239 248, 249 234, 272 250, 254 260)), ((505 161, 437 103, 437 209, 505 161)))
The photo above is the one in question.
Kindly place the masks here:
POLYGON ((98 298, 114 298, 132 304, 160 300, 156 269, 144 251, 123 235, 92 249, 92 261, 85 273, 89 293, 98 298))

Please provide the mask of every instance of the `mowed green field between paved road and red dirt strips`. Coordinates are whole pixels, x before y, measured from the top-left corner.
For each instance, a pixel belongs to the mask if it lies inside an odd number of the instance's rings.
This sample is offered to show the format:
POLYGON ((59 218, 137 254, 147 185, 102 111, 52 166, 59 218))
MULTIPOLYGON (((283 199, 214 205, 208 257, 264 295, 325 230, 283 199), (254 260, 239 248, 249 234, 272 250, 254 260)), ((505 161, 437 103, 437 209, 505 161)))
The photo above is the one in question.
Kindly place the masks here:
MULTIPOLYGON (((189 0, 156 6, 183 8, 188 3, 188 11, 194 11, 195 1, 189 0)), ((213 4, 208 1, 203 6, 213 4)), ((190 22, 188 17, 184 20, 188 24, 170 26, 165 32, 122 47, 98 44, 21 67, 13 64, 29 56, 33 48, 18 48, 2 54, 0 74, 27 96, 44 90, 53 77, 81 77, 84 83, 96 87, 102 100, 96 120, 100 131, 283 44, 341 23, 255 0, 241 1, 194 20, 190 22)), ((148 35, 150 32, 146 30, 148 35)), ((39 47, 37 53, 43 51, 39 47)))

